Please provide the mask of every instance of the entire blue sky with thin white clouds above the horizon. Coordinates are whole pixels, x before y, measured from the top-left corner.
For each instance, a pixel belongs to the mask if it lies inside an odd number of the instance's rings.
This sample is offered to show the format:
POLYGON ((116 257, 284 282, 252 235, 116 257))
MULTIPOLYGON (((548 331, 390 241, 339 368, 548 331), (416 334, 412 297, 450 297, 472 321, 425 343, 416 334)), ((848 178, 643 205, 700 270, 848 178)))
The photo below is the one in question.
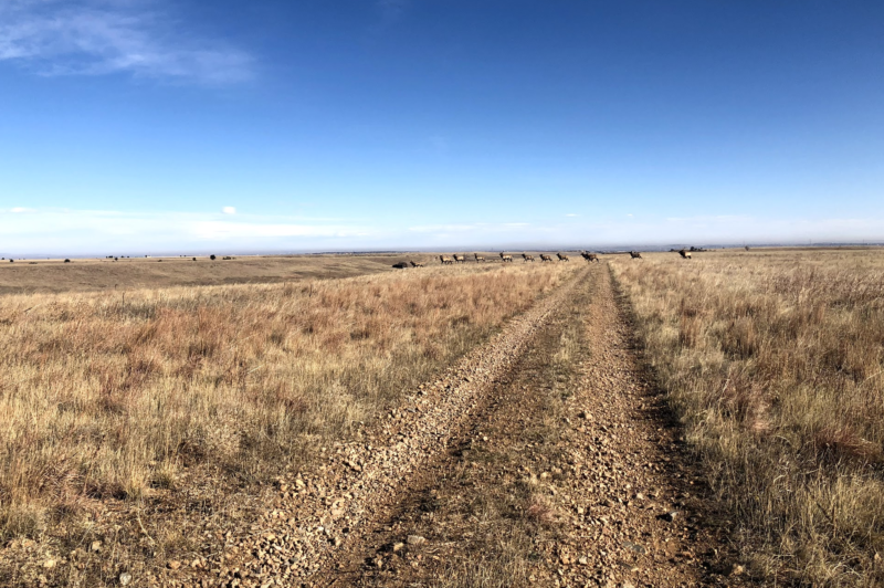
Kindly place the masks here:
POLYGON ((0 255, 884 241, 884 2, 0 0, 0 255))

